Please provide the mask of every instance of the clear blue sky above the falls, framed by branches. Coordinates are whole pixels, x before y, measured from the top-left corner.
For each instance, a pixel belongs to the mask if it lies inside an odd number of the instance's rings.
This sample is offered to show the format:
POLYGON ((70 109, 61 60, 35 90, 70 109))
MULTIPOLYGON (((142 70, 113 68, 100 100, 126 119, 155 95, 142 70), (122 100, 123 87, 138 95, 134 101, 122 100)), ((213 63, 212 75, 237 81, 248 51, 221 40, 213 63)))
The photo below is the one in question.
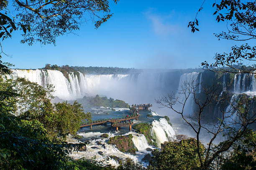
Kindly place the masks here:
POLYGON ((56 46, 20 44, 21 32, 4 40, 3 50, 12 57, 3 61, 16 68, 41 68, 46 63, 72 66, 195 68, 216 52, 229 52, 237 42, 218 40, 213 33, 226 28, 212 16, 212 0, 199 13, 200 32, 187 28, 202 0, 120 0, 111 4, 113 17, 94 29, 87 21, 77 34, 57 38, 56 46))

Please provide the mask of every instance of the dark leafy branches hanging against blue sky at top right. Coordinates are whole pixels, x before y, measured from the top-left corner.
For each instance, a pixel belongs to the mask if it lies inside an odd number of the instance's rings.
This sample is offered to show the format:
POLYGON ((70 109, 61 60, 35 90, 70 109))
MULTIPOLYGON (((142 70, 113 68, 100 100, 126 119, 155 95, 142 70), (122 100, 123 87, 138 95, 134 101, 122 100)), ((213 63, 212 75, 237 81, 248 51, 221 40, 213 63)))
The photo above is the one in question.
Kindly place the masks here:
MULTIPOLYGON (((205 0, 204 0, 205 2, 205 0)), ((203 4, 202 4, 203 5, 203 4)), ((215 34, 220 39, 253 42, 256 39, 256 1, 221 0, 212 4, 217 22, 227 22, 227 30, 215 34), (250 40, 250 41, 249 41, 250 40)), ((197 14, 202 10, 202 6, 197 14)), ((192 32, 199 31, 197 15, 188 27, 192 32)), ((202 62, 206 70, 215 72, 256 73, 256 46, 248 43, 233 46, 230 53, 216 53, 215 63, 202 62)))

